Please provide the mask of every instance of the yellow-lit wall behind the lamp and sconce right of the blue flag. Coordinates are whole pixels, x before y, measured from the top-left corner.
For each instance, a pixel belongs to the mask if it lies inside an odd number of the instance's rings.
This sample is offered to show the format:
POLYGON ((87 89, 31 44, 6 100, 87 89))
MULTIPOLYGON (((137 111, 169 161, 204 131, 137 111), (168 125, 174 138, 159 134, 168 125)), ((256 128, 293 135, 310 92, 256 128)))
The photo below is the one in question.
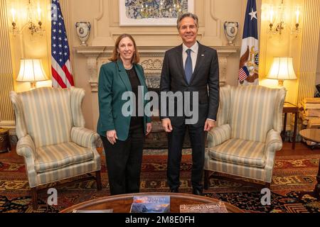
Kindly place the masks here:
POLYGON ((268 5, 272 4, 277 9, 279 1, 262 0, 262 28, 260 36, 260 84, 268 87, 277 87, 277 81, 266 79, 266 74, 270 70, 272 57, 293 57, 294 71, 298 79, 284 81, 287 89, 286 101, 298 104, 306 96, 314 94, 314 84, 316 83, 316 71, 319 79, 319 1, 292 0, 284 1, 287 24, 282 35, 267 35, 269 28, 268 5), (300 6, 300 33, 293 34, 295 6, 300 6), (289 26, 288 26, 289 25, 289 26), (316 33, 316 34, 314 34, 316 33), (318 70, 314 67, 314 60, 318 57, 318 70), (311 89, 310 89, 311 87, 311 89))

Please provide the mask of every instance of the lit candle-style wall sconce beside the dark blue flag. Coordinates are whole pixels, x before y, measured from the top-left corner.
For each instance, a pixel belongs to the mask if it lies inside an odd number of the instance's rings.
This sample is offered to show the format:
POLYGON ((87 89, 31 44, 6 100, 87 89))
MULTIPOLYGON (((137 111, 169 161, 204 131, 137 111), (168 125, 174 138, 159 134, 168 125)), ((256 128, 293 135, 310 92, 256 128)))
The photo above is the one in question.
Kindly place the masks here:
POLYGON ((297 37, 297 34, 300 32, 299 19, 301 16, 301 11, 299 9, 299 6, 296 6, 294 13, 292 13, 292 20, 294 20, 294 26, 290 26, 288 23, 286 23, 287 15, 286 15, 286 6, 284 5, 284 0, 281 1, 281 4, 279 5, 277 11, 274 11, 273 6, 270 6, 268 14, 269 14, 268 15, 268 20, 269 20, 268 33, 270 34, 269 38, 271 38, 272 34, 282 35, 283 30, 286 27, 288 27, 293 34, 296 34, 296 37, 297 37))

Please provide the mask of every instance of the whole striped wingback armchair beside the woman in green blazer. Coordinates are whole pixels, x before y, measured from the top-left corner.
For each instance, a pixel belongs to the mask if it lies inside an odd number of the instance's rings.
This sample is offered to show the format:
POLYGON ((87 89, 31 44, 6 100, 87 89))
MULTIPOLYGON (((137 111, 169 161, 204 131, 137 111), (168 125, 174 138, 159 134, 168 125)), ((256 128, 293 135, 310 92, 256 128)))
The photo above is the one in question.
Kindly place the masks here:
POLYGON ((37 208, 37 187, 95 172, 101 189, 97 133, 85 128, 83 89, 44 87, 11 92, 16 115, 16 152, 24 157, 28 183, 37 208))

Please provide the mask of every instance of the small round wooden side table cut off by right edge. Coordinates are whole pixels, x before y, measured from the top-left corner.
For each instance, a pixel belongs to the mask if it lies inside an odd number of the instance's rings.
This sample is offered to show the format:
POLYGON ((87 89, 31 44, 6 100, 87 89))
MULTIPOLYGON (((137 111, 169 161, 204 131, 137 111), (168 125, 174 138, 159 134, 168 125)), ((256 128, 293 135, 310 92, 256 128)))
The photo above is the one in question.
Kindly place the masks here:
MULTIPOLYGON (((319 128, 307 128, 299 132, 302 138, 305 140, 310 140, 315 143, 320 143, 320 129, 319 128)), ((313 148, 311 148, 313 149, 313 148)), ((320 199, 320 160, 318 167, 318 175, 316 175, 316 187, 314 188, 314 192, 311 192, 312 195, 316 196, 316 198, 320 199)), ((309 194, 309 193, 303 193, 309 194)))

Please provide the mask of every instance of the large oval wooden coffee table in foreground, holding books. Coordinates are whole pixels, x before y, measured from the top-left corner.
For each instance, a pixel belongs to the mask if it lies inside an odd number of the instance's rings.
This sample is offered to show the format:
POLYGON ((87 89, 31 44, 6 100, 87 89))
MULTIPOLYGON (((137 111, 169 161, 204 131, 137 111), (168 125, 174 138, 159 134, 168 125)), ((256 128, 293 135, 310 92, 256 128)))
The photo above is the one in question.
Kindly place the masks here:
MULTIPOLYGON (((114 213, 129 213, 134 196, 170 196, 171 213, 179 213, 181 204, 209 204, 217 203, 218 199, 208 198, 205 196, 196 196, 193 194, 178 193, 137 193, 122 194, 117 196, 106 196, 99 199, 92 199, 81 204, 70 206, 61 211, 61 213, 72 213, 75 210, 105 210, 113 209, 114 213)), ((229 213, 244 213, 241 209, 225 202, 229 213)))

